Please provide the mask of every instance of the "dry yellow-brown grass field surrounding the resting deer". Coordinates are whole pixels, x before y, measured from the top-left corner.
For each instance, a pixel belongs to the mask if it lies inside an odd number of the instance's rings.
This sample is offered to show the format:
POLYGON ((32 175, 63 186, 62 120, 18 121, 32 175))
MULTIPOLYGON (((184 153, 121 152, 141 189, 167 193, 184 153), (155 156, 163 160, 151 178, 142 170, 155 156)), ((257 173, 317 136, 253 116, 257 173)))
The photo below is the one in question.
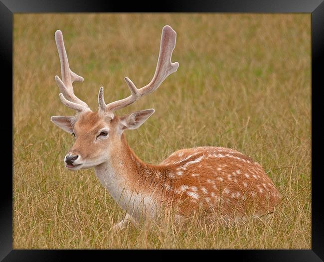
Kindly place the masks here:
POLYGON ((14 249, 310 249, 310 14, 14 14, 14 249), (97 110, 126 97, 124 77, 151 80, 161 30, 177 32, 180 66, 145 99, 155 108, 126 131, 144 161, 177 149, 234 148, 262 164, 283 195, 271 217, 231 225, 193 217, 112 232, 123 217, 94 170, 71 172, 73 137, 50 122, 74 112, 59 100, 54 32, 62 30, 80 99, 97 110))

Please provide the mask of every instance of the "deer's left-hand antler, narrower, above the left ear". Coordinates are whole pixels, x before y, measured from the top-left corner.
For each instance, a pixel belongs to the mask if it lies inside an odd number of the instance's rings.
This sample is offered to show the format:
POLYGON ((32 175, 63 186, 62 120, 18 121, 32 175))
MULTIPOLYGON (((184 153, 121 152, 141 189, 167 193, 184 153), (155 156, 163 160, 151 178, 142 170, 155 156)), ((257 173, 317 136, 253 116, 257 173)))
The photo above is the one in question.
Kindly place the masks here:
POLYGON ((55 76, 55 81, 61 91, 60 99, 62 103, 74 110, 85 111, 90 110, 88 105, 78 99, 73 92, 73 82, 82 82, 83 77, 78 76, 76 73, 72 72, 69 67, 69 61, 67 60, 67 55, 64 47, 63 34, 60 30, 55 32, 55 41, 58 50, 58 54, 61 62, 61 74, 62 80, 55 76))

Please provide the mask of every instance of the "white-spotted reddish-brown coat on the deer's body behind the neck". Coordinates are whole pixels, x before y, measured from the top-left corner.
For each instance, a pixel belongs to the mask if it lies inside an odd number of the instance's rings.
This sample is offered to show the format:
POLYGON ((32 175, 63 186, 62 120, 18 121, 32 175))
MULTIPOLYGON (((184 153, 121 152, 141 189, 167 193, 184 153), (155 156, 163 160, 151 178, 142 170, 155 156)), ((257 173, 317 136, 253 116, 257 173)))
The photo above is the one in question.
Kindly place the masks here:
POLYGON ((178 203, 182 215, 190 215, 198 207, 230 217, 248 211, 261 215, 280 201, 279 191, 261 165, 233 149, 182 149, 160 167, 168 170, 166 195, 178 203))

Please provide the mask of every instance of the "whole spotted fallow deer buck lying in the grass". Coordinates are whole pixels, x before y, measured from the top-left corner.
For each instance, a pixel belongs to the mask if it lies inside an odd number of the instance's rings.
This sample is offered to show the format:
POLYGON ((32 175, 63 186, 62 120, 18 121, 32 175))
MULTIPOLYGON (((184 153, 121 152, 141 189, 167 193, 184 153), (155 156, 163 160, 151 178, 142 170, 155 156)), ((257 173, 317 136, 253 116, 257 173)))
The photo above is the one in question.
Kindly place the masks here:
POLYGON ((176 32, 169 25, 162 29, 151 82, 137 88, 125 77, 131 95, 109 104, 100 87, 97 112, 74 94, 73 82, 82 82, 83 77, 69 67, 60 30, 55 32, 55 41, 62 77, 55 76, 59 98, 76 112, 73 116, 51 117, 51 122, 75 137, 64 164, 70 171, 94 168, 100 183, 126 211, 115 229, 157 218, 163 208, 171 207, 179 220, 199 208, 219 218, 234 219, 246 216, 249 208, 255 216, 273 212, 281 199, 278 189, 259 163, 237 150, 216 146, 180 149, 154 165, 142 161, 128 145, 124 131, 138 129, 155 110, 124 116, 115 112, 156 91, 165 78, 177 71, 179 63, 171 61, 176 32))

